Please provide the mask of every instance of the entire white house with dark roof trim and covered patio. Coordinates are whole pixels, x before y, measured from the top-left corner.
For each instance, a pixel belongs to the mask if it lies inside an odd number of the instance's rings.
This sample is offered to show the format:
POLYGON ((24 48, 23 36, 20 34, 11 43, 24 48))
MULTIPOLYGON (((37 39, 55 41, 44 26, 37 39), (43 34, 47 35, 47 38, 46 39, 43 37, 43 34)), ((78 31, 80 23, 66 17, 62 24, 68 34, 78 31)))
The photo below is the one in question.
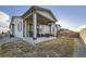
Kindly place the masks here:
POLYGON ((58 20, 50 10, 33 5, 22 16, 12 17, 10 24, 11 35, 28 41, 39 41, 44 38, 44 40, 47 40, 57 37, 58 27, 56 27, 56 22, 58 20))

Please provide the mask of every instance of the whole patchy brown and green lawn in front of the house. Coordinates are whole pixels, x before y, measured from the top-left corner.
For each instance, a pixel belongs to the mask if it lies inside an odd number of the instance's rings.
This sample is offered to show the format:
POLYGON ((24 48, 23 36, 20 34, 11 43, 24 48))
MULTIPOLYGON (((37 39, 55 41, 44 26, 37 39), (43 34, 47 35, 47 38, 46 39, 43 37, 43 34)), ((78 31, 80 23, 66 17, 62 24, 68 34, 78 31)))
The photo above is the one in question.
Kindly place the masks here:
POLYGON ((69 37, 59 37, 35 46, 25 41, 9 42, 0 46, 0 56, 70 57, 75 51, 75 38, 69 37))

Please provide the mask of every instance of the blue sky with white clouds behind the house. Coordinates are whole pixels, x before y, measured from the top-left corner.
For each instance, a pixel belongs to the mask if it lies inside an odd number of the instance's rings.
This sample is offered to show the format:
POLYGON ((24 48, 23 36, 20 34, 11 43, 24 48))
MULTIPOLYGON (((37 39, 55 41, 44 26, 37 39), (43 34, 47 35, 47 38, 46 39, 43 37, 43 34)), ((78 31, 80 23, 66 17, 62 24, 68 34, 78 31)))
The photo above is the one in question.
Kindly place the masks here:
MULTIPOLYGON (((63 28, 77 30, 86 27, 86 7, 84 5, 41 5, 50 9, 57 17, 57 24, 63 28)), ((0 5, 0 27, 9 26, 9 17, 23 15, 30 5, 0 5), (3 17, 3 18, 2 18, 3 17)))

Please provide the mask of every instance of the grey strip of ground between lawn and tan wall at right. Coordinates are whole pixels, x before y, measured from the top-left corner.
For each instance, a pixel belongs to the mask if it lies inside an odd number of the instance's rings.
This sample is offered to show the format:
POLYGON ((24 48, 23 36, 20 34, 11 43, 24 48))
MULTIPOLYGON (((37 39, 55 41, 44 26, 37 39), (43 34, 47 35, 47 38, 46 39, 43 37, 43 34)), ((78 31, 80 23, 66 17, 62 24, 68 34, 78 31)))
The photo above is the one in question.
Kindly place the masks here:
POLYGON ((75 51, 74 57, 86 57, 86 48, 81 39, 75 39, 77 44, 77 51, 75 51))

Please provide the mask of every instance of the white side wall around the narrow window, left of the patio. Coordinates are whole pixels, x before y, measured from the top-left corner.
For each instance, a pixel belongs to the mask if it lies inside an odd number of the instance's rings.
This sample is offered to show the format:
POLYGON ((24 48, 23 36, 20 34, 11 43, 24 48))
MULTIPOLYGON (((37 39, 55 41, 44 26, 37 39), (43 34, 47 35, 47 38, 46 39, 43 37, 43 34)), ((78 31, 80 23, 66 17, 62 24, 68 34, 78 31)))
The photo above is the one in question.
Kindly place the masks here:
POLYGON ((23 20, 21 17, 15 17, 13 21, 14 24, 14 36, 23 38, 23 20), (22 23, 22 30, 17 30, 17 24, 22 23))

